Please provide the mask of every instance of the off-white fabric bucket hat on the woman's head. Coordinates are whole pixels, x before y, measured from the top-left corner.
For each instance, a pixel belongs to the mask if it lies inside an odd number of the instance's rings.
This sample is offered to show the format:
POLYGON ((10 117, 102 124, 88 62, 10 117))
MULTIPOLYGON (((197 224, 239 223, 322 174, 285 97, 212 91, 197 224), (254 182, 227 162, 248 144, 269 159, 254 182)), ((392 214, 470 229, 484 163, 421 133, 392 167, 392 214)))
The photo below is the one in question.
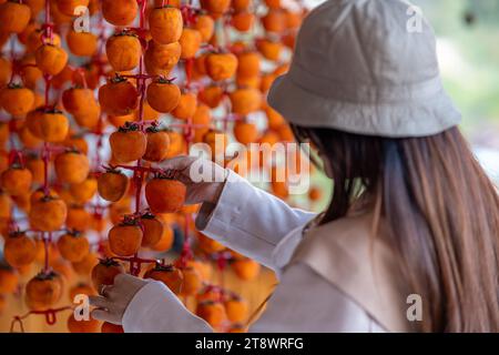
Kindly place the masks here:
POLYGON ((292 123, 365 135, 425 136, 458 124, 434 31, 415 10, 401 0, 325 2, 305 19, 268 103, 292 123))

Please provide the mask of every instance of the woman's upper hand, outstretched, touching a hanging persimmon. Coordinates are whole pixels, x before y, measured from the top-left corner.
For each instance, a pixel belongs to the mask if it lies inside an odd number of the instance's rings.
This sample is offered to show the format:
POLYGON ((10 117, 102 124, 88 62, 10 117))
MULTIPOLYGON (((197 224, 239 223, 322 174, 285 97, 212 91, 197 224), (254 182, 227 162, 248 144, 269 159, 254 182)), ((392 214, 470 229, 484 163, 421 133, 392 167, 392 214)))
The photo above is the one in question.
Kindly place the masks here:
POLYGON ((176 179, 187 186, 186 203, 216 204, 224 187, 226 170, 208 160, 176 156, 161 164, 164 170, 176 170, 176 179))

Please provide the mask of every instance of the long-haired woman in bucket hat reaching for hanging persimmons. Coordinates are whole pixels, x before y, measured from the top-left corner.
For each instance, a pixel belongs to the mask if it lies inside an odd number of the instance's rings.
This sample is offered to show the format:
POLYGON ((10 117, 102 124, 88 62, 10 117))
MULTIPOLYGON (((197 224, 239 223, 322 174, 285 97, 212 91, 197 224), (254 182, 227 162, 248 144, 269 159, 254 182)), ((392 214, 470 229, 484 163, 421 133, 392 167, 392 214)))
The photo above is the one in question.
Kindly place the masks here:
MULTIPOLYGON (((271 90, 334 181, 322 215, 213 163, 225 183, 192 182, 192 158, 165 163, 203 203, 203 233, 276 271, 252 332, 499 332, 497 190, 456 126, 432 31, 408 7, 327 1, 271 90)), ((126 332, 212 331, 153 281, 119 276, 92 303, 126 332)))

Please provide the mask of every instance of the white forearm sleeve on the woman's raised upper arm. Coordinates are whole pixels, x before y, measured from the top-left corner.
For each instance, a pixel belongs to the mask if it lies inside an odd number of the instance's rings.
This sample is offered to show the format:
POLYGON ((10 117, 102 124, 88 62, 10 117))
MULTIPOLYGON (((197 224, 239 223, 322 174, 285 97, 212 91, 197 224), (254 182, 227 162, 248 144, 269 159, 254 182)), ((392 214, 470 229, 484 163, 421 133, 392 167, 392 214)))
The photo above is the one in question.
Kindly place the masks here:
POLYGON ((234 172, 230 172, 214 210, 205 210, 202 207, 196 219, 200 231, 271 268, 275 268, 272 254, 281 240, 315 216, 289 207, 234 172))

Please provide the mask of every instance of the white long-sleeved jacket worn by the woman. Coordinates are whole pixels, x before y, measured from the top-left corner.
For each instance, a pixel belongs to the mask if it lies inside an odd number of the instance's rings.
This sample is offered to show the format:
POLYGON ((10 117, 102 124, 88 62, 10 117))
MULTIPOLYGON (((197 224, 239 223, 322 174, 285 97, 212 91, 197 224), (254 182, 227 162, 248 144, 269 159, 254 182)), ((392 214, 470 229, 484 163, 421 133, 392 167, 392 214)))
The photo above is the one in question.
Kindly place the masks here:
MULTIPOLYGON (((329 239, 330 225, 317 229, 326 232, 324 237, 315 237, 314 243, 308 243, 308 246, 307 243, 302 243, 303 229, 314 216, 313 213, 289 207, 234 173, 230 174, 211 214, 204 214, 202 209, 196 224, 203 233, 274 270, 279 278, 265 313, 249 332, 405 331, 404 325, 399 326, 401 316, 398 313, 391 312, 391 315, 386 316, 390 314, 386 307, 398 310, 393 305, 393 297, 383 294, 381 298, 388 300, 388 305, 380 305, 379 301, 373 301, 378 298, 371 297, 373 288, 378 283, 363 281, 373 278, 365 275, 371 267, 357 267, 356 258, 369 258, 368 256, 350 257, 349 252, 338 253, 344 246, 336 246, 339 244, 337 239, 330 239, 333 244, 329 246, 317 243, 316 240, 329 239), (296 253, 298 244, 301 251, 296 253), (303 257, 296 258, 296 254, 302 254, 303 257), (338 256, 334 257, 335 254, 338 256), (324 258, 324 267, 317 262, 320 258, 324 258), (336 260, 342 264, 335 265, 336 260), (350 277, 350 272, 358 277, 350 277), (394 317, 397 318, 395 322, 394 317)), ((364 235, 367 233, 357 231, 363 223, 346 224, 349 226, 336 223, 339 231, 334 234, 342 234, 345 227, 353 229, 356 235, 363 235, 358 241, 365 240, 364 235)), ((343 240, 350 243, 355 237, 343 240)), ((363 246, 355 248, 363 250, 363 246)), ((385 278, 388 280, 385 284, 391 284, 390 277, 385 278)), ((133 297, 124 313, 123 327, 125 332, 212 332, 210 325, 189 312, 166 286, 154 281, 133 297)))

